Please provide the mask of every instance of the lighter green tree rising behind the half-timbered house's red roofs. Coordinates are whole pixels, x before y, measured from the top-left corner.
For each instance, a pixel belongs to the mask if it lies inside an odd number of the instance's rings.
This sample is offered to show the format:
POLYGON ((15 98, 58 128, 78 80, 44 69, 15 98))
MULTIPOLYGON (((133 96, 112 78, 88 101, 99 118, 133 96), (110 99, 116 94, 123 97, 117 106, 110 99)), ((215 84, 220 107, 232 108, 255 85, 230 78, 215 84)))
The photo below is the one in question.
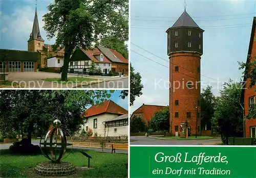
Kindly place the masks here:
POLYGON ((119 37, 109 36, 101 39, 99 45, 110 49, 115 49, 117 52, 123 55, 125 59, 129 59, 128 46, 119 37))

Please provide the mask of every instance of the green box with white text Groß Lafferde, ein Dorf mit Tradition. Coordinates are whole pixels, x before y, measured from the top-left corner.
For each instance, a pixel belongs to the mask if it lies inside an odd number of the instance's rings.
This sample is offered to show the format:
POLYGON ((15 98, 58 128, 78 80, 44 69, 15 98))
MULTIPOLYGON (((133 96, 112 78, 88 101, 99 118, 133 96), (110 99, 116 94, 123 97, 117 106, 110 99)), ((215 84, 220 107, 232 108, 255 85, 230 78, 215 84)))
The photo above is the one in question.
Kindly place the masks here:
POLYGON ((256 147, 130 147, 130 177, 256 178, 256 147))

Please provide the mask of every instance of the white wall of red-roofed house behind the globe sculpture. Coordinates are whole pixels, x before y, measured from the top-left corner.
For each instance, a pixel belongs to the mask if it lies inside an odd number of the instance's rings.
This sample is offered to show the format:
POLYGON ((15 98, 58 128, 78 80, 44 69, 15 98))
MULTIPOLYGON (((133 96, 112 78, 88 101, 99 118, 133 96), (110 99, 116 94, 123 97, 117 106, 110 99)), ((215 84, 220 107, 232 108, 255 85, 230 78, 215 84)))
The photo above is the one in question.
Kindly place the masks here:
MULTIPOLYGON (((103 113, 103 114, 89 117, 88 122, 84 123, 84 125, 82 125, 82 129, 86 130, 86 126, 88 126, 88 129, 92 129, 93 136, 94 136, 94 133, 97 133, 98 136, 104 137, 104 136, 106 136, 107 133, 105 131, 105 125, 103 124, 103 121, 109 120, 109 119, 112 119, 112 118, 115 118, 118 116, 119 116, 118 114, 103 113), (97 129, 93 128, 94 119, 97 119, 97 129)), ((106 128, 106 129, 108 129, 108 128, 106 128)), ((113 132, 114 132, 114 130, 113 130, 113 132)), ((126 131, 126 134, 128 134, 128 130, 126 131)))

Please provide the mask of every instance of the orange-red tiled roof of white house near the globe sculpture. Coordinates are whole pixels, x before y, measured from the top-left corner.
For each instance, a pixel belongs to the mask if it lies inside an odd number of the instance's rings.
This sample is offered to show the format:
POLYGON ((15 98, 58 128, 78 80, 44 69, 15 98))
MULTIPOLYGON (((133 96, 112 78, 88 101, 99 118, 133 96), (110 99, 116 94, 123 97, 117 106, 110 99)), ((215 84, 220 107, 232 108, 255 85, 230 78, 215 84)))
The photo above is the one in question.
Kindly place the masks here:
POLYGON ((113 114, 127 114, 128 111, 117 105, 112 100, 105 100, 103 103, 97 104, 89 108, 84 116, 90 117, 102 113, 113 113, 113 114))

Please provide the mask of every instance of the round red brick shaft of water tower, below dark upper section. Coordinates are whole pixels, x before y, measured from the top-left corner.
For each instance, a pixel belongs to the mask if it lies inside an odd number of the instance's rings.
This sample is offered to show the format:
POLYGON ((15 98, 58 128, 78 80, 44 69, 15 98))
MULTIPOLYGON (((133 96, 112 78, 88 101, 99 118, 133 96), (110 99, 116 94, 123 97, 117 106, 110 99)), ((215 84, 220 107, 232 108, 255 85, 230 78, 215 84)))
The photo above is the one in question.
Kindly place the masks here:
MULTIPOLYGON (((198 67, 200 69, 201 55, 193 53, 176 53, 169 57, 170 84, 174 84, 170 88, 169 95, 169 111, 170 111, 170 132, 175 135, 175 126, 178 125, 179 135, 180 123, 188 121, 191 134, 196 134, 196 106, 198 100, 200 100, 200 70, 198 73, 198 67), (172 63, 173 60, 173 63, 172 63), (179 71, 175 71, 175 66, 179 67, 179 71), (173 75, 173 76, 172 76, 173 75), (180 82, 180 87, 178 88, 178 81, 180 82), (186 83, 191 81, 193 83, 193 89, 188 89, 186 83), (179 100, 179 105, 175 106, 175 100, 179 100), (179 113, 179 117, 175 118, 175 112, 179 113), (191 118, 187 118, 187 112, 191 113, 191 118)), ((198 108, 198 113, 200 113, 200 107, 198 108)), ((198 118, 197 125, 200 127, 200 118, 198 118)), ((200 130, 198 130, 198 134, 200 130)))

